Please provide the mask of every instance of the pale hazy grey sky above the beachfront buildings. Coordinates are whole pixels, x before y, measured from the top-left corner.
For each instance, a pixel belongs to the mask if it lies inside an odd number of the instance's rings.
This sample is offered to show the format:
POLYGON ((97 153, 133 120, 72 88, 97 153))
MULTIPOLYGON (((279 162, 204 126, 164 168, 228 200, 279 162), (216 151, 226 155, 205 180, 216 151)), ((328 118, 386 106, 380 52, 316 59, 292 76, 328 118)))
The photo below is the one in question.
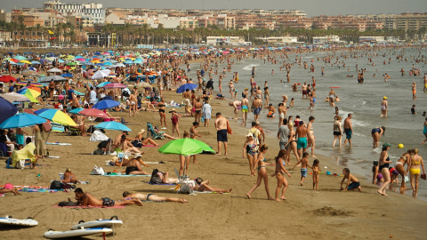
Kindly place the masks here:
MULTIPOLYGON (((43 7, 45 0, 0 0, 0 9, 43 7)), ((62 0, 62 3, 90 3, 62 0)), ((285 9, 302 10, 308 16, 368 13, 427 12, 426 0, 93 0, 104 7, 173 9, 285 9)))

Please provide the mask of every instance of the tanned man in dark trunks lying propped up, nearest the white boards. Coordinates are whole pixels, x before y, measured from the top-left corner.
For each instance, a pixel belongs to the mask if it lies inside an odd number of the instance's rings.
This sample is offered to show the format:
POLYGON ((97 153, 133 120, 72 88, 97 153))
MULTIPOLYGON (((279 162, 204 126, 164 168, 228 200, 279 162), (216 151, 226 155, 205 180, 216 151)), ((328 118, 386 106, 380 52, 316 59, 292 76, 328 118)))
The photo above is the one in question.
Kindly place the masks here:
POLYGON ((101 199, 98 199, 89 193, 84 193, 82 188, 76 188, 74 190, 74 193, 76 194, 76 200, 77 204, 82 206, 120 206, 120 205, 132 205, 137 204, 139 206, 142 205, 140 199, 129 199, 129 200, 123 200, 121 202, 116 202, 114 200, 111 200, 109 197, 103 197, 101 199))

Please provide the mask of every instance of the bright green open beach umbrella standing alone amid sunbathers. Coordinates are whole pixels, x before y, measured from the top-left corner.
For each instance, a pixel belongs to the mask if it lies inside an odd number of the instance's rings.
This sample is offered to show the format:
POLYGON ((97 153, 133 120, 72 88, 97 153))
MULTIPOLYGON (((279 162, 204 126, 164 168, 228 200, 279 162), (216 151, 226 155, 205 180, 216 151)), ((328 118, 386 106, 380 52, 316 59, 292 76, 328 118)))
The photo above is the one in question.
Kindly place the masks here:
POLYGON ((202 153, 203 151, 215 153, 215 151, 207 144, 205 144, 205 142, 195 139, 171 140, 162 148, 158 149, 159 153, 183 156, 196 155, 202 153))

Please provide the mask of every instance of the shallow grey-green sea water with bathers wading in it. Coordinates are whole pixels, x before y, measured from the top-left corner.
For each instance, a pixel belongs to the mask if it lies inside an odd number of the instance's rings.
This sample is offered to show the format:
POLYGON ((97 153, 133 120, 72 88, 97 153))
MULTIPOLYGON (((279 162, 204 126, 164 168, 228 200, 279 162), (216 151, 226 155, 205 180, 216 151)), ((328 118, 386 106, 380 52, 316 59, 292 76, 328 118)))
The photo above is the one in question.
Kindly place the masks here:
MULTIPOLYGON (((344 51, 345 52, 345 51, 344 51)), ((353 51, 355 52, 355 51, 353 51)), ((363 185, 371 184, 372 180, 372 166, 373 161, 378 160, 381 147, 384 142, 389 142, 392 147, 389 151, 392 164, 394 166, 408 148, 418 148, 419 155, 423 156, 424 163, 427 159, 427 144, 420 145, 424 140, 423 135, 423 122, 425 116, 422 116, 423 111, 427 111, 427 93, 423 92, 423 74, 427 71, 425 64, 416 64, 412 58, 421 58, 421 55, 426 56, 427 52, 423 49, 421 52, 418 49, 381 49, 371 51, 359 51, 357 55, 359 58, 343 59, 341 56, 342 51, 338 52, 307 52, 298 54, 298 58, 302 58, 302 62, 306 61, 308 68, 304 69, 296 63, 295 53, 287 53, 288 59, 281 59, 279 54, 276 54, 278 64, 271 64, 263 59, 243 59, 239 62, 235 60, 231 72, 228 72, 222 81, 223 94, 227 99, 230 99, 230 93, 226 84, 232 79, 232 72, 238 72, 239 81, 235 84, 238 90, 238 100, 241 100, 241 92, 249 87, 251 78, 251 70, 255 67, 256 76, 254 81, 262 87, 265 81, 268 81, 270 90, 270 103, 277 108, 278 103, 281 102, 281 96, 287 94, 288 103, 294 98, 294 107, 291 107, 286 115, 287 116, 301 116, 301 119, 307 123, 309 116, 315 116, 316 120, 313 124, 314 135, 316 136, 315 155, 323 155, 330 158, 330 162, 320 163, 327 166, 329 164, 339 164, 342 167, 349 167, 351 172, 359 173, 366 176, 367 180, 362 181, 363 185), (360 57, 363 53, 363 57, 360 57), (373 61, 368 61, 367 54, 376 53, 373 61), (397 60, 398 54, 404 54, 403 60, 397 60), (321 60, 326 55, 333 55, 331 62, 334 63, 336 56, 339 60, 344 60, 345 68, 334 64, 326 64, 321 60), (318 60, 320 58, 320 60, 318 60), (389 58, 391 62, 389 64, 389 58), (407 58, 407 61, 405 61, 407 58), (314 62, 311 62, 311 59, 314 62), (280 66, 283 61, 293 63, 294 66, 290 72, 291 82, 286 83, 286 68, 280 71, 280 66), (383 61, 386 64, 383 64, 383 61), (375 63, 375 66, 372 65, 375 63), (313 64, 315 71, 310 73, 310 65, 313 64), (409 76, 409 70, 419 68, 422 71, 421 76, 409 76), (356 65, 360 68, 366 68, 365 82, 359 84, 357 80, 358 70, 356 65), (321 67, 325 67, 326 76, 321 76, 321 67), (404 68, 406 76, 401 76, 400 69, 404 68), (274 75, 271 75, 271 70, 274 69, 274 75), (384 82, 383 74, 387 73, 391 76, 388 82, 384 82), (375 77, 373 75, 376 75, 375 77), (354 77, 347 77, 352 75, 354 77), (316 105, 314 110, 308 110, 310 100, 302 100, 302 93, 298 86, 298 92, 292 92, 291 84, 307 82, 312 84, 311 76, 316 78, 316 105), (417 84, 417 99, 412 99, 411 84, 417 84), (283 83, 282 83, 283 82, 283 83), (353 114, 353 137, 352 147, 349 148, 348 144, 345 148, 338 148, 338 143, 335 148, 332 148, 333 124, 334 124, 334 107, 330 107, 329 103, 325 101, 331 86, 340 87, 334 89, 336 95, 340 97, 341 101, 336 102, 335 106, 339 108, 342 122, 349 113, 353 114), (381 115, 381 101, 383 96, 387 96, 389 102, 389 112, 387 118, 380 118, 381 115), (412 115, 410 108, 416 105, 416 115, 412 115), (373 148, 373 140, 371 130, 375 127, 385 126, 386 131, 380 140, 380 148, 373 148), (405 148, 397 148, 398 144, 403 144, 405 148)), ((350 56, 350 54, 349 54, 350 56)), ((198 65, 198 64, 194 64, 198 65)), ((218 68, 221 70, 226 66, 226 63, 218 68)), ((197 68, 197 67, 195 67, 197 68)), ((192 73, 191 75, 194 75, 192 73)), ((206 73, 207 75, 207 73, 206 73)), ((194 76, 193 76, 194 77, 194 76)), ((208 80, 205 76, 206 81, 208 80)), ((218 76, 213 77, 215 90, 217 90, 218 76)), ((216 91, 214 91, 216 92, 216 91)), ((253 100, 253 99, 252 99, 253 100)), ((252 102, 250 100, 250 102, 252 102)), ((262 100, 264 103, 264 100, 262 100)), ((262 110, 260 116, 260 123, 266 132, 275 134, 278 131, 278 116, 275 118, 266 117, 267 109, 262 110)), ((253 121, 254 115, 249 113, 249 123, 253 121)), ((250 125, 250 124, 248 124, 250 125)), ((342 136, 342 142, 345 140, 345 134, 342 136)), ((307 149, 310 152, 310 148, 307 149)), ((406 168, 407 166, 405 166, 406 168)), ((427 167, 427 166, 426 166, 427 167)), ((337 172, 341 173, 341 172, 337 172)), ((401 177, 399 177, 400 185, 401 177)), ((399 188, 394 188, 396 185, 391 185, 392 190, 398 191, 399 188)), ((399 186, 398 186, 399 187, 399 186)), ((410 188, 410 183, 407 182, 407 187, 410 188)), ((412 189, 407 190, 407 195, 412 194, 412 189)), ((420 179, 419 198, 427 200, 427 181, 420 179)))

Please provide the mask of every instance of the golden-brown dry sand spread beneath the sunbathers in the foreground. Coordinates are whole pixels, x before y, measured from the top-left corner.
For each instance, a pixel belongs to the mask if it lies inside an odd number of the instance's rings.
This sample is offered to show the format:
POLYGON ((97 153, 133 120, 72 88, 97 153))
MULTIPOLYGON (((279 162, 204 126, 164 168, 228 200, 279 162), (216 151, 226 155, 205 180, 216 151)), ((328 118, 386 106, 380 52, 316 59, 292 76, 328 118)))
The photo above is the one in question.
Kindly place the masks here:
MULTIPOLYGON (((166 100, 181 101, 181 94, 165 93, 166 100)), ((224 116, 233 116, 228 100, 211 100, 213 113, 221 111, 224 116)), ((37 108, 40 108, 37 106, 37 108)), ((167 109, 167 108, 166 108, 167 109)), ((178 108, 183 115, 184 109, 178 108)), ((139 112, 134 118, 127 113, 112 113, 113 116, 125 117, 128 125, 136 135, 146 123, 158 124, 158 113, 139 112)), ((166 133, 172 133, 170 114, 166 133)), ((252 120, 252 119, 250 119, 252 120)), ((194 121, 192 117, 182 117, 181 134, 189 130, 194 121)), ((271 121, 277 121, 272 119, 271 121)), ((218 188, 233 188, 231 194, 198 194, 197 196, 177 195, 170 190, 172 186, 152 186, 141 182, 147 177, 101 177, 90 175, 94 165, 102 166, 107 172, 125 168, 105 166, 111 156, 93 156, 91 153, 98 142, 89 141, 89 137, 68 136, 66 133, 52 133, 51 142, 71 143, 71 146, 48 145, 51 156, 59 159, 45 158, 38 164, 44 166, 37 170, 10 170, 0 162, 0 183, 10 182, 14 185, 50 185, 51 180, 58 180, 58 173, 67 167, 76 173, 79 180, 90 181, 81 185, 85 191, 98 198, 111 197, 118 200, 123 191, 152 193, 159 196, 185 197, 189 203, 143 203, 143 206, 126 206, 124 209, 70 209, 54 208, 52 205, 60 201, 74 198, 74 193, 22 193, 21 196, 10 194, 0 197, 0 216, 12 215, 14 218, 32 217, 39 222, 36 228, 0 227, 3 239, 43 239, 49 228, 68 230, 79 220, 109 219, 117 215, 124 221, 122 228, 117 228, 116 236, 110 239, 425 239, 427 223, 423 220, 427 213, 427 203, 409 196, 402 196, 389 191, 389 196, 376 193, 377 187, 368 180, 359 177, 363 192, 342 192, 339 190, 342 178, 320 175, 319 191, 312 190, 311 175, 300 186, 300 171, 295 168, 291 172, 287 200, 274 202, 266 200, 262 186, 253 193, 253 199, 246 198, 246 193, 253 187, 256 177, 250 177, 246 158, 242 158, 242 147, 245 141, 243 134, 247 129, 240 127, 238 120, 230 120, 233 135, 229 135, 229 155, 199 155, 199 164, 189 164, 191 179, 202 177, 209 179, 211 185, 218 188), (40 177, 36 177, 37 172, 40 177)), ((30 129, 27 129, 29 132, 30 129)), ((118 132, 107 132, 108 136, 116 137, 118 132)), ((215 150, 216 131, 214 119, 209 128, 200 127, 200 140, 205 141, 215 150)), ((322 137, 322 136, 317 136, 322 137)), ((169 140, 156 140, 161 146, 169 140)), ((273 163, 278 153, 276 132, 267 134, 269 151, 265 155, 267 161, 273 163)), ((143 160, 147 162, 165 161, 166 164, 149 164, 145 169, 151 172, 158 168, 173 174, 173 168, 179 168, 178 156, 162 155, 158 148, 142 148, 146 151, 143 160)), ((4 159, 4 158, 2 158, 4 159)), ((322 170, 327 166, 331 172, 342 172, 342 166, 335 165, 325 156, 318 156, 322 170)), ((310 157, 310 164, 313 159, 310 157)), ((295 159, 291 156, 291 163, 295 159)), ((286 169, 289 169, 286 167, 286 169)), ((274 166, 267 166, 269 174, 274 166)), ((309 170, 310 172, 310 170, 309 170)), ((326 172, 326 171, 324 171, 326 172)), ((276 178, 269 178, 272 195, 276 187, 276 178)), ((100 239, 100 236, 89 236, 87 239, 100 239)))

